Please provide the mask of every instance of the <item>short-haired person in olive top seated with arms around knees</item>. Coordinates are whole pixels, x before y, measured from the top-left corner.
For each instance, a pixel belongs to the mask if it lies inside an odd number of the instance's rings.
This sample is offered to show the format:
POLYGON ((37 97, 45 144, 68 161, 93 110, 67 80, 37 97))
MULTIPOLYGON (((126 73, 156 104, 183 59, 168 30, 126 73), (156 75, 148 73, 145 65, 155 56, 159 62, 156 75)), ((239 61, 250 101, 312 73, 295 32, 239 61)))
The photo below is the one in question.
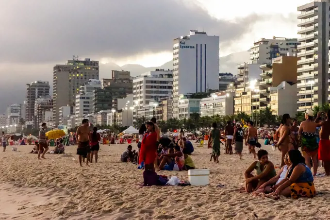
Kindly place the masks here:
POLYGON ((265 182, 276 176, 274 164, 268 160, 268 152, 259 150, 257 155, 259 160, 253 162, 244 173, 246 192, 255 191, 265 182), (257 172, 255 176, 251 174, 253 169, 257 172))

